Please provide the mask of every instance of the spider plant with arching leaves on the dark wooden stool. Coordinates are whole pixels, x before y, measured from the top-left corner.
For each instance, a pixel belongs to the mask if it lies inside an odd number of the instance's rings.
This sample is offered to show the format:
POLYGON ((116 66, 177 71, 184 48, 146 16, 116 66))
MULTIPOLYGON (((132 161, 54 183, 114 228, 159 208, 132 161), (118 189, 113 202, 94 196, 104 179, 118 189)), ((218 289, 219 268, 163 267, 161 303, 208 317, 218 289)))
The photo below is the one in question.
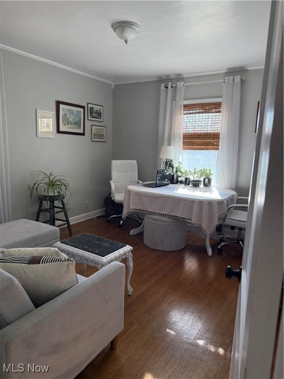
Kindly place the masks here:
POLYGON ((46 200, 52 196, 54 200, 62 200, 67 194, 72 195, 69 183, 63 175, 53 175, 43 171, 38 172, 38 179, 33 183, 31 188, 31 197, 35 192, 38 196, 46 197, 46 200))

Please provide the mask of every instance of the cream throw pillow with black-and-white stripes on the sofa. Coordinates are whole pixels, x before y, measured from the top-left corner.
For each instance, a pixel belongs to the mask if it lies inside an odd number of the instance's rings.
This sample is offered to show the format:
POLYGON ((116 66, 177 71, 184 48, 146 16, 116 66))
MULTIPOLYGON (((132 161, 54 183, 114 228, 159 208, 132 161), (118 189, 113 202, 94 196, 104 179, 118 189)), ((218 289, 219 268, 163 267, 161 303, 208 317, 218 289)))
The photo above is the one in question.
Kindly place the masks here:
POLYGON ((18 279, 36 307, 78 283, 75 262, 58 249, 50 247, 4 250, 1 252, 0 269, 18 279), (61 258, 60 262, 50 256, 61 258), (9 257, 15 259, 9 260, 9 257))

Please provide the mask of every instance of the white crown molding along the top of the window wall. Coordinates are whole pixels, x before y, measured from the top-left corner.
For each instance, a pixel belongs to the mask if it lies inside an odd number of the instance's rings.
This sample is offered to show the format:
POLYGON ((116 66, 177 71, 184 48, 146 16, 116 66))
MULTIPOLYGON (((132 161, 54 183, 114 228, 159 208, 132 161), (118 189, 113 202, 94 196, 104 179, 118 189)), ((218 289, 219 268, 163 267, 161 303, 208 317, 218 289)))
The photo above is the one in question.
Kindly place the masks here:
POLYGON ((206 76, 206 75, 214 75, 214 74, 228 74, 228 73, 234 73, 234 72, 240 72, 240 71, 249 71, 249 70, 262 70, 264 66, 252 66, 252 67, 240 67, 240 68, 234 68, 234 69, 228 69, 228 70, 220 70, 220 71, 208 71, 206 73, 196 73, 196 74, 186 74, 186 75, 170 75, 170 76, 159 76, 159 77, 153 77, 151 79, 133 79, 133 80, 125 80, 120 81, 117 83, 114 83, 114 85, 120 85, 120 84, 134 84, 134 83, 143 83, 147 81, 159 81, 159 80, 173 80, 173 79, 179 79, 183 77, 194 77, 194 76, 206 76))

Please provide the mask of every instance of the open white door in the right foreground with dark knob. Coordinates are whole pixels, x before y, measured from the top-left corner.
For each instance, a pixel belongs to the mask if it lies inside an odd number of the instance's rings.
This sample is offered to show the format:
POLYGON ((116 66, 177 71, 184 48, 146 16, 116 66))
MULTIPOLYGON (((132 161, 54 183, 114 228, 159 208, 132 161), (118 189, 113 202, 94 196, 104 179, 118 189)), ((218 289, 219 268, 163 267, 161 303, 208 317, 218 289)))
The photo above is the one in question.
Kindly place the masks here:
POLYGON ((258 128, 230 370, 234 379, 269 379, 277 340, 283 283, 282 1, 271 5, 258 128))

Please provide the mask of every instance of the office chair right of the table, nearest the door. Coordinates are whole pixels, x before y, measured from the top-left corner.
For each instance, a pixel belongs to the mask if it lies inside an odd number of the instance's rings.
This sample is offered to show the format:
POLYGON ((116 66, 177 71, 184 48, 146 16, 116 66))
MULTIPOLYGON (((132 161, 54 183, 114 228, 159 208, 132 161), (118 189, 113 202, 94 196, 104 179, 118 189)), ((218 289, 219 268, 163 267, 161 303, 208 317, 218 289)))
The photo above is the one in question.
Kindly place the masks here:
MULTIPOLYGON (((249 198, 242 196, 238 197, 237 201, 238 200, 249 200, 249 198)), ((249 204, 234 204, 228 206, 228 212, 224 221, 222 222, 222 225, 228 225, 231 227, 232 230, 238 228, 238 236, 232 237, 231 235, 218 233, 218 235, 222 236, 217 248, 219 254, 221 254, 221 252, 223 251, 222 247, 229 243, 239 243, 242 246, 242 248, 244 248, 243 231, 246 229, 247 225, 248 207, 249 204), (234 208, 244 208, 246 209, 246 211, 234 208), (225 240, 225 238, 228 238, 228 240, 225 240)))

